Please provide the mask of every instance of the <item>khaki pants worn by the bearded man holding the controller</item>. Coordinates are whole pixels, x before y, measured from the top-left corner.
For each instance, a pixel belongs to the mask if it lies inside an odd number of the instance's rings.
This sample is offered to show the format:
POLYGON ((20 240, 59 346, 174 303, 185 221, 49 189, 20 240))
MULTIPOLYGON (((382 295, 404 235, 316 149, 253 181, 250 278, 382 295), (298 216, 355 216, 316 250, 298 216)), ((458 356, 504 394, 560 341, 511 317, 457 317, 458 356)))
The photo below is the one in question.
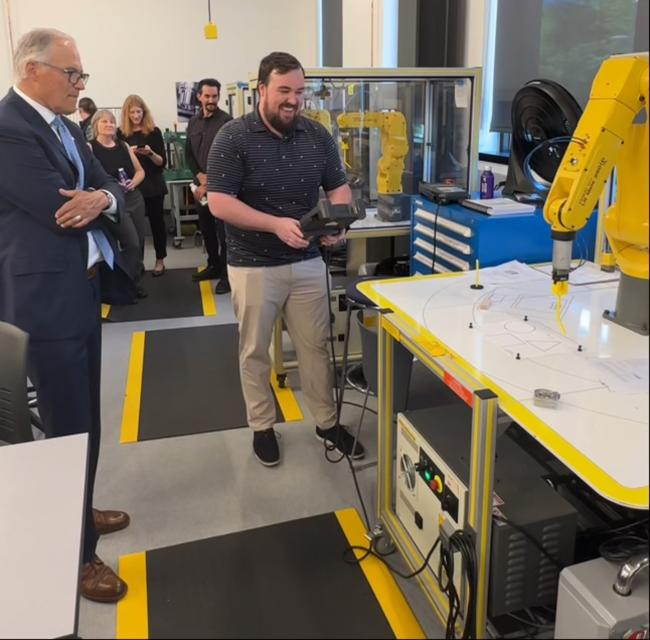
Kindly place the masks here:
POLYGON ((316 424, 336 424, 328 354, 329 305, 321 258, 278 267, 228 267, 239 321, 239 369, 248 424, 256 431, 276 420, 269 347, 280 313, 296 348, 304 398, 316 424))

